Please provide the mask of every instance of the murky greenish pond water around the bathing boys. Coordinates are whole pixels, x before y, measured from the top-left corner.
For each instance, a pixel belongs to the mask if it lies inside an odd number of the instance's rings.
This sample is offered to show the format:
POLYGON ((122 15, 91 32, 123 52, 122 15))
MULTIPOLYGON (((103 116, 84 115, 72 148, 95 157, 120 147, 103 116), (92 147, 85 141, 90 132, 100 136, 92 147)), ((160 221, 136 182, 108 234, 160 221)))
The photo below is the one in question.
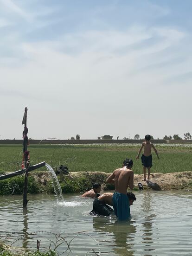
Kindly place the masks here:
POLYGON ((93 199, 64 194, 0 197, 0 235, 14 247, 46 250, 61 237, 59 255, 187 256, 192 255, 192 191, 136 191, 130 222, 93 217, 93 199), (50 240, 49 240, 50 239, 50 240), (91 250, 93 249, 93 250, 91 250), (87 252, 90 250, 90 253, 87 252))

